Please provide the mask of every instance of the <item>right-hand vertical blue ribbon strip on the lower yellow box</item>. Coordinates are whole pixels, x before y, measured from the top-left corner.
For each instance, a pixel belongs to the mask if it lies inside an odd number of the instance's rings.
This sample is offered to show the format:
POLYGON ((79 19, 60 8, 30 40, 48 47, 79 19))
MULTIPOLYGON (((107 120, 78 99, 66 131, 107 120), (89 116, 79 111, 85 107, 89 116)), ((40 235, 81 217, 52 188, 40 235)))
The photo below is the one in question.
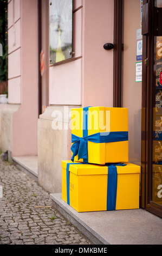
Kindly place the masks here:
POLYGON ((118 173, 116 166, 126 166, 124 163, 110 163, 106 164, 108 167, 107 175, 107 211, 116 209, 116 192, 118 173))

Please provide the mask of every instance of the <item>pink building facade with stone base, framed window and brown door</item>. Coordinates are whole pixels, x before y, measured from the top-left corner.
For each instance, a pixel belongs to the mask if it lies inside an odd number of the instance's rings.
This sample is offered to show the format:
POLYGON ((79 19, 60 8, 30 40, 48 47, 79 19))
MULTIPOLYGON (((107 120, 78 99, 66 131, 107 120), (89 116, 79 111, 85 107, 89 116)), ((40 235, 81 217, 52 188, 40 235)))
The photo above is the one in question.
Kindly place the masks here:
POLYGON ((50 193, 61 192, 61 161, 72 154, 70 109, 127 107, 140 206, 161 216, 161 8, 161 0, 8 1, 1 149, 37 155, 50 193))

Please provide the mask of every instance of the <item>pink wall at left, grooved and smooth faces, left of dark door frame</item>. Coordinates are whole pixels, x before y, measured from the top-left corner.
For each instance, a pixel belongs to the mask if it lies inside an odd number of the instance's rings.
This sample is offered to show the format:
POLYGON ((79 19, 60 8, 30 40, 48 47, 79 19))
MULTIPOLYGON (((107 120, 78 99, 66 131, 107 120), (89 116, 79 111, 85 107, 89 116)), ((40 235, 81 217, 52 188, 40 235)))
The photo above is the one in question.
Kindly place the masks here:
POLYGON ((12 155, 37 155, 37 0, 8 1, 9 104, 20 104, 12 120, 12 155))

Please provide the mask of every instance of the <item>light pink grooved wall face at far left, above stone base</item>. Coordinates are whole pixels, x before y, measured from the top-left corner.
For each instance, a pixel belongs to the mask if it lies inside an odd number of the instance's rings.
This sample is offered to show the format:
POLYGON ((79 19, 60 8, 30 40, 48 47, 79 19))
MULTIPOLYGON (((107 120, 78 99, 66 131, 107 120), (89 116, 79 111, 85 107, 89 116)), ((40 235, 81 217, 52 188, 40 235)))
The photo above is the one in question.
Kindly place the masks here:
POLYGON ((8 102, 21 103, 21 4, 8 1, 8 102))

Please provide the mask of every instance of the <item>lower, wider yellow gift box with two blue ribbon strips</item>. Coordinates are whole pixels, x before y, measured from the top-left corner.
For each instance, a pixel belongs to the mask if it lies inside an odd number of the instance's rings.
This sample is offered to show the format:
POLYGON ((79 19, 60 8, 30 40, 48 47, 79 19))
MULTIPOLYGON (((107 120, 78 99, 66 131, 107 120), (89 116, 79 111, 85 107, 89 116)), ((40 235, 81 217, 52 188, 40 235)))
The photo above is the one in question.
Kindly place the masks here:
POLYGON ((77 212, 139 208, 140 166, 62 161, 62 199, 77 212))

